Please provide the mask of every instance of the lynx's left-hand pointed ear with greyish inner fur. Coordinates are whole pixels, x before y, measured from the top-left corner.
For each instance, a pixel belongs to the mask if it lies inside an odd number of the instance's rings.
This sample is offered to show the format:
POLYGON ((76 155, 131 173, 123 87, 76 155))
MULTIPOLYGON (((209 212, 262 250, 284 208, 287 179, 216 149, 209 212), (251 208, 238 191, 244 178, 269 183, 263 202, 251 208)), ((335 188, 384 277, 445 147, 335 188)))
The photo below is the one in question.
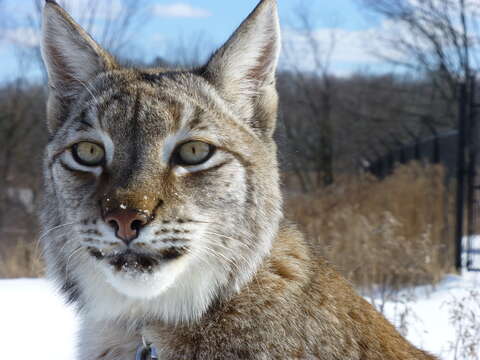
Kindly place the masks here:
POLYGON ((50 130, 58 125, 61 108, 68 106, 89 80, 116 68, 112 56, 53 0, 46 0, 43 9, 42 57, 50 86, 50 130))

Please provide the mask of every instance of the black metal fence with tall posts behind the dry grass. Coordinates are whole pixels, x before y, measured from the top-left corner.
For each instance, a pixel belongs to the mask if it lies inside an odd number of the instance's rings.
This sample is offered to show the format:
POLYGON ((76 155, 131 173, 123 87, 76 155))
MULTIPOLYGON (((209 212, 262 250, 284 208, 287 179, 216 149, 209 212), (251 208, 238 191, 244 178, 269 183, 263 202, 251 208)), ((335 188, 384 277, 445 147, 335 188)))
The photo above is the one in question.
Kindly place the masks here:
MULTIPOLYGON (((471 77, 459 84, 458 129, 439 133, 429 128, 431 136, 418 138, 405 129, 412 141, 405 144, 390 135, 370 146, 371 159, 364 168, 383 178, 396 164, 412 160, 441 163, 447 181, 456 181, 455 266, 458 270, 480 271, 480 126, 476 100, 477 81, 471 77)), ((427 123, 427 122, 425 122, 427 123)))

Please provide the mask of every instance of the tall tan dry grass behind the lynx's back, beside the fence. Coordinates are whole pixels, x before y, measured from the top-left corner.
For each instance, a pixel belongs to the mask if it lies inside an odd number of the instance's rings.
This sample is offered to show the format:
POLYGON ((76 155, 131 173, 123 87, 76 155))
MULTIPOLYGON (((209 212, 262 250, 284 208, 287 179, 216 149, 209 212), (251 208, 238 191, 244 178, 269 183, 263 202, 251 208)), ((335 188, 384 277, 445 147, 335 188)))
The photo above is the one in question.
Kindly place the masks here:
POLYGON ((452 199, 439 165, 411 163, 287 198, 285 209, 354 284, 388 296, 452 271, 452 199))

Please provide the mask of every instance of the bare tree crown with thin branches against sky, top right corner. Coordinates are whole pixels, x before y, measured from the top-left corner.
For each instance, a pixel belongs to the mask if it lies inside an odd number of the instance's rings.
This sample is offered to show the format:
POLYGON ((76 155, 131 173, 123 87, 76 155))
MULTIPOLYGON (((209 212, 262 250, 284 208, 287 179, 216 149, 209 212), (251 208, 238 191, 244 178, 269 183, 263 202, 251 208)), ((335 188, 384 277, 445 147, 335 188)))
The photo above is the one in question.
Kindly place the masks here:
POLYGON ((389 61, 428 75, 439 95, 454 101, 457 84, 478 70, 480 2, 476 0, 358 0, 396 26, 385 40, 389 61))

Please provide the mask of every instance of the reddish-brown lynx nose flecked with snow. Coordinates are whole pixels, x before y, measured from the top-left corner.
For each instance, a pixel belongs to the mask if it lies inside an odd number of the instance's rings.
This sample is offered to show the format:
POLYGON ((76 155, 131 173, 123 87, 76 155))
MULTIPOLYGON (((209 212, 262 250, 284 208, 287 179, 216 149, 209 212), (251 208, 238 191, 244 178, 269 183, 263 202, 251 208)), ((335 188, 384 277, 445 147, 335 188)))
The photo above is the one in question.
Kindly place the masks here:
POLYGON ((115 235, 128 245, 137 238, 140 229, 147 224, 148 217, 135 210, 119 209, 108 213, 105 222, 115 230, 115 235))

